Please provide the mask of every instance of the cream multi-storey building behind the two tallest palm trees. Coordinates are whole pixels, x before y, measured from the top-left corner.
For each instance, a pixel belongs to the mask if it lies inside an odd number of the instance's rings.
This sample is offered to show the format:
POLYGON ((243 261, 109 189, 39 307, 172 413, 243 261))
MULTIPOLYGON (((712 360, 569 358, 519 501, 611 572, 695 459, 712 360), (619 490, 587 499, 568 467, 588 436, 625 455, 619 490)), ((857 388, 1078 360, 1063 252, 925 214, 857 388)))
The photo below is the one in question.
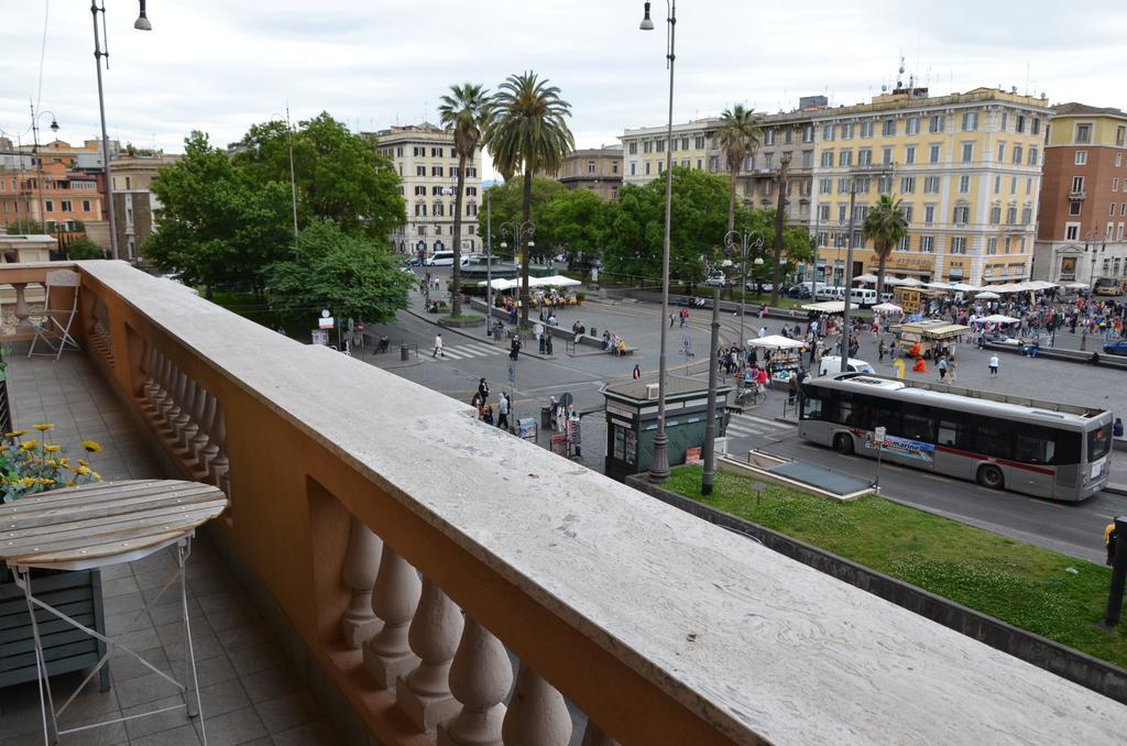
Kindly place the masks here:
MULTIPOLYGON (((394 163, 407 201, 407 224, 390 237, 400 254, 451 250, 454 236, 454 197, 458 153, 454 133, 433 124, 393 126, 375 137, 380 153, 394 163)), ((478 198, 481 194, 480 151, 467 161, 462 199, 462 251, 477 251, 478 198)))

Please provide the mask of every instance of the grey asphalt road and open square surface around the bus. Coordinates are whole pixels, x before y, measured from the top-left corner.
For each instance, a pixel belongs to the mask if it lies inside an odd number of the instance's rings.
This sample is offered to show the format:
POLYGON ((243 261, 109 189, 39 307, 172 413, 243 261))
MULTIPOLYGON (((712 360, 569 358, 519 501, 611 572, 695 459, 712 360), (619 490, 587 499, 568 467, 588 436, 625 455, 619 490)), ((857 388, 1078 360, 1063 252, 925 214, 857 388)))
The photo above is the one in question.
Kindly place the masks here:
MULTIPOLYGON (((477 390, 478 379, 485 376, 495 396, 500 391, 512 392, 516 417, 536 417, 539 420, 540 407, 548 402, 549 396, 559 397, 569 392, 580 410, 595 408, 603 403, 598 390, 605 381, 628 376, 636 362, 644 372, 655 370, 659 330, 655 321, 659 313, 656 307, 645 303, 588 303, 582 309, 569 309, 560 314, 561 326, 569 327, 573 317, 582 318, 588 325, 597 322, 601 329, 614 329, 627 336, 631 344, 637 344, 639 354, 625 361, 610 355, 569 357, 561 354, 562 346, 557 345, 552 359, 522 355, 513 366, 513 380, 509 379, 507 348, 486 341, 483 330, 476 329, 469 335, 444 331, 449 355, 445 359, 432 359, 436 327, 403 312, 393 325, 369 325, 370 335, 379 337, 387 334, 391 338, 392 349, 387 355, 365 354, 363 358, 467 403, 477 390), (417 345, 418 357, 412 357, 407 363, 400 362, 397 347, 399 341, 417 345)), ((671 334, 671 370, 675 373, 684 374, 687 371, 702 376, 707 373, 704 358, 709 317, 708 312, 693 313, 684 329, 678 325, 671 334), (673 353, 674 340, 682 338, 690 338, 699 352, 696 357, 677 357, 673 353)), ((772 332, 781 323, 766 321, 767 329, 772 332)), ((745 319, 745 329, 757 329, 758 326, 758 319, 745 319)), ((752 334, 754 331, 749 331, 748 336, 752 334)), ((737 337, 738 319, 730 314, 722 317, 721 338, 735 340, 737 337)), ((877 364, 876 344, 875 336, 863 336, 861 357, 873 364, 877 364)), ((1003 358, 1003 378, 988 380, 985 375, 985 358, 986 354, 980 350, 964 346, 959 382, 964 385, 1111 409, 1127 405, 1127 387, 1122 387, 1121 371, 1092 370, 1071 363, 1010 356, 1003 358)), ((878 364, 878 370, 891 374, 887 361, 884 365, 878 364)), ((928 378, 934 379, 935 373, 930 373, 928 378)), ((871 480, 875 477, 875 461, 842 456, 828 449, 806 443, 793 435, 793 426, 775 421, 774 418, 783 414, 784 399, 784 394, 780 392, 769 392, 766 401, 748 414, 735 417, 729 430, 729 453, 739 454, 753 447, 763 447, 771 453, 833 468, 861 479, 871 480)), ((583 428, 584 449, 580 461, 588 468, 602 471, 605 453, 603 417, 598 414, 585 417, 583 428)), ((547 445, 547 434, 541 432, 540 444, 547 445)), ((1127 497, 1108 492, 1081 504, 1056 503, 987 490, 973 482, 888 463, 881 465, 881 494, 906 505, 1093 561, 1103 559, 1103 526, 1115 515, 1127 513, 1127 497)))

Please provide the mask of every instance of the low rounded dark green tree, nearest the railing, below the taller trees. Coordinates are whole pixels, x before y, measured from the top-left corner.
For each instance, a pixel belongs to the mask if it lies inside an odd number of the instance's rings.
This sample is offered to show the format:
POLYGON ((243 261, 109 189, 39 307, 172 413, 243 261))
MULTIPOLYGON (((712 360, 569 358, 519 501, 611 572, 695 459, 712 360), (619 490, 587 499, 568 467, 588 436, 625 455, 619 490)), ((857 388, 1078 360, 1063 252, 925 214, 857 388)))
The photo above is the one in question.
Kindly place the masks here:
POLYGON ((329 309, 341 319, 388 323, 407 308, 412 275, 381 241, 345 232, 331 221, 301 231, 298 257, 269 272, 272 309, 285 319, 312 319, 329 309))

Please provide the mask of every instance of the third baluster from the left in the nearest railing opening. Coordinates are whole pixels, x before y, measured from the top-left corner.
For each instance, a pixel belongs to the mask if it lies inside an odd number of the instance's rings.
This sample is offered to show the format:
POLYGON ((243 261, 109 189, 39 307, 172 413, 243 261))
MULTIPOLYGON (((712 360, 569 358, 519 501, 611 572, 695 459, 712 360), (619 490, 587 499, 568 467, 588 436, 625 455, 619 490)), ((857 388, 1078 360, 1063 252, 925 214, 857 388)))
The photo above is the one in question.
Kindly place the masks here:
POLYGON ((423 578, 423 597, 407 637, 419 665, 397 682, 396 703, 424 732, 458 712, 458 700, 450 693, 450 665, 462 625, 458 605, 436 583, 423 578))

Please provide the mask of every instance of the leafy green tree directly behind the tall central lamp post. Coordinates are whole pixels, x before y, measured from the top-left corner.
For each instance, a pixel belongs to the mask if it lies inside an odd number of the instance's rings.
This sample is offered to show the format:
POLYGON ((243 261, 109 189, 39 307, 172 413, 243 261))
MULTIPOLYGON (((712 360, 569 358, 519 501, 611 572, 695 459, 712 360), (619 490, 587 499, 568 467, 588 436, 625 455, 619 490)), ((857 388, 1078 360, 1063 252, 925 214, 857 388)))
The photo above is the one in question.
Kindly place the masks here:
MULTIPOLYGON (((673 169, 669 273, 674 279, 704 278, 706 261, 718 258, 724 247, 727 206, 728 185, 722 176, 673 169)), ((606 214, 606 270, 627 278, 660 279, 665 183, 624 185, 618 201, 607 203, 606 214)))

